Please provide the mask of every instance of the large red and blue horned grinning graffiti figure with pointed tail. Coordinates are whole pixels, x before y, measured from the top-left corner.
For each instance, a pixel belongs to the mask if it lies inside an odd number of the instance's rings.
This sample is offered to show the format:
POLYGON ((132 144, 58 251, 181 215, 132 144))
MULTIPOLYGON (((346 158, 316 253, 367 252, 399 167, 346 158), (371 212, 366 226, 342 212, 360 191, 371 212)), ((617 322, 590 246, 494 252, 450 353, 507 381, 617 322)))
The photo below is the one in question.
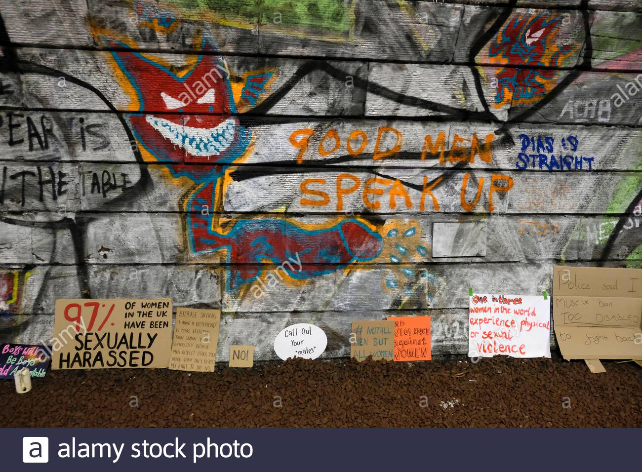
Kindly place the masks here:
MULTIPOLYGON (((173 177, 193 182, 185 199, 186 234, 191 254, 225 250, 229 266, 227 289, 234 292, 261 274, 261 263, 281 264, 297 254, 302 267, 293 279, 326 274, 355 261, 369 261, 383 249, 383 239, 356 220, 304 229, 277 218, 239 219, 232 229, 214 229, 213 214, 220 209, 217 189, 229 164, 251 152, 252 132, 243 127, 221 57, 200 55, 182 75, 144 57, 120 42, 111 53, 135 91, 141 113, 127 115, 138 143, 173 177), (122 49, 125 49, 123 51, 122 49), (146 113, 142 113, 146 111, 146 113), (153 114, 150 114, 150 110, 153 114), (178 112, 178 113, 177 113, 178 112), (214 210, 214 211, 213 211, 214 210)), ((204 43, 203 49, 207 49, 204 43)), ((266 94, 270 73, 250 74, 241 100, 252 105, 266 94)))

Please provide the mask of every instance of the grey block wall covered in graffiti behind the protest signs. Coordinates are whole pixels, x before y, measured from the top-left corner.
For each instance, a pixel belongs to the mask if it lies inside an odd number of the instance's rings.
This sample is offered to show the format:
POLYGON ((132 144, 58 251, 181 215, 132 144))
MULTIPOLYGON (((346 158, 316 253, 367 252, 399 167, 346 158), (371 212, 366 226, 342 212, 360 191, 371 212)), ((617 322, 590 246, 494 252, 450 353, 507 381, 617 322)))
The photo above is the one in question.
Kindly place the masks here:
MULTIPOLYGON (((56 298, 288 324, 641 267, 639 0, 1 0, 0 341, 56 298)), ((554 288, 553 288, 554 292, 554 288)), ((551 340, 551 342, 554 342, 551 340)))

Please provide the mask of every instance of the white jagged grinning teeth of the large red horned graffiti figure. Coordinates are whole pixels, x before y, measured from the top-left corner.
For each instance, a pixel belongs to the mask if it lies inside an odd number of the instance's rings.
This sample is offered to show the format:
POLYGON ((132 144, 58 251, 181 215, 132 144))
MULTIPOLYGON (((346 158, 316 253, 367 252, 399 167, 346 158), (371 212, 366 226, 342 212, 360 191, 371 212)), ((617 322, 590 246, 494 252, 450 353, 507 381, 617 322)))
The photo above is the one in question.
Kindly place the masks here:
POLYGON ((228 118, 214 128, 186 127, 153 115, 147 115, 146 120, 165 139, 196 156, 220 155, 232 144, 236 132, 234 118, 228 118))

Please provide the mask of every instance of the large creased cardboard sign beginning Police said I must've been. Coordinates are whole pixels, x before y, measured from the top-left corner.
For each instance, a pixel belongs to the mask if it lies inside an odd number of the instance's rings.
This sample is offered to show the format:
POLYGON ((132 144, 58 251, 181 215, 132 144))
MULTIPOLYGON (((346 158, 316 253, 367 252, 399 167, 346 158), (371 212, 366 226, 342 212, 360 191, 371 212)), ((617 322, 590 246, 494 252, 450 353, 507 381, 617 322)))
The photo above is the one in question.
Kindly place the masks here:
POLYGON ((564 359, 642 359, 642 269, 553 269, 555 338, 564 359))

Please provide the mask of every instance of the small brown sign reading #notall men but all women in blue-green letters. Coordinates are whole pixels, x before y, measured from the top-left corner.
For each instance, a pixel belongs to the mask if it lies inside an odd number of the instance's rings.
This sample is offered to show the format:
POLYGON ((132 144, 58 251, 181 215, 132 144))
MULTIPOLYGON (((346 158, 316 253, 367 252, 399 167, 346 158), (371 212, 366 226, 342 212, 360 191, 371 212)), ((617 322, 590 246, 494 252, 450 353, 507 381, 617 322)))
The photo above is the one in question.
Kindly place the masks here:
POLYGON ((394 329, 392 320, 353 321, 350 334, 350 356, 362 361, 394 359, 394 329))

